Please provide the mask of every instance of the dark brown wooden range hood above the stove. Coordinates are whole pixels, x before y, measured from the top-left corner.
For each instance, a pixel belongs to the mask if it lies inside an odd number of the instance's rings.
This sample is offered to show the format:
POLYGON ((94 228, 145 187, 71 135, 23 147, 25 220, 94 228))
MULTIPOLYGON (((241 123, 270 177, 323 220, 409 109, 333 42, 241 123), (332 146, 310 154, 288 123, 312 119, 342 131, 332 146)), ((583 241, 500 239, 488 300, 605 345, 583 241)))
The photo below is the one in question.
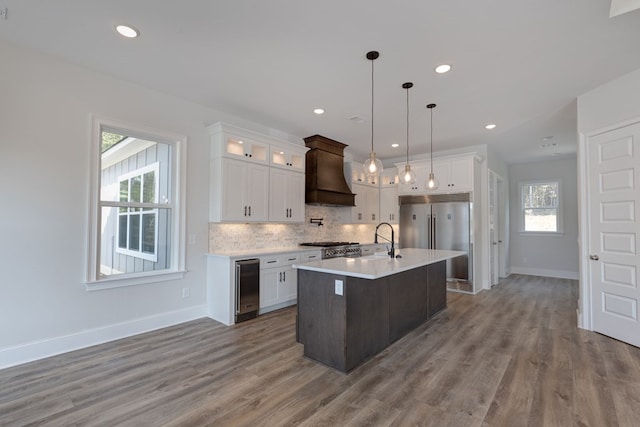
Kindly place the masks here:
POLYGON ((355 206, 355 194, 344 179, 342 144, 321 135, 304 139, 306 157, 305 203, 308 205, 355 206))

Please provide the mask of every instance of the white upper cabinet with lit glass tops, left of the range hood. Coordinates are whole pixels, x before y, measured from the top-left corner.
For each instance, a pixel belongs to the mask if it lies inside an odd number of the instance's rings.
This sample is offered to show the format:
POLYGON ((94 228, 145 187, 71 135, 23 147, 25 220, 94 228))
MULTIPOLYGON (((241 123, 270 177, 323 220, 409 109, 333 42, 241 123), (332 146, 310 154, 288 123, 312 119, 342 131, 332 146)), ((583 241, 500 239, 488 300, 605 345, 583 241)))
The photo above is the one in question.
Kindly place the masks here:
POLYGON ((304 221, 306 147, 225 123, 208 130, 210 221, 304 221))

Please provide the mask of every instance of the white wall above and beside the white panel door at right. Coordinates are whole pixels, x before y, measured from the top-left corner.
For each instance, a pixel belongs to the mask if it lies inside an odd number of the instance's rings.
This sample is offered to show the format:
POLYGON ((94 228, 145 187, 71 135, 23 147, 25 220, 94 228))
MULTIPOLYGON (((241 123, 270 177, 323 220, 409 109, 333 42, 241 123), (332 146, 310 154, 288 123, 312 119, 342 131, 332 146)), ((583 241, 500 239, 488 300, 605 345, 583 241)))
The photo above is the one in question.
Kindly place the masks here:
MULTIPOLYGON (((615 127, 640 122, 640 69, 619 79, 608 82, 578 97, 578 188, 586 194, 586 139, 589 135, 611 130, 615 127)), ((578 325, 591 329, 591 300, 587 271, 588 247, 586 212, 587 203, 579 199, 580 206, 580 300, 578 301, 578 325)))

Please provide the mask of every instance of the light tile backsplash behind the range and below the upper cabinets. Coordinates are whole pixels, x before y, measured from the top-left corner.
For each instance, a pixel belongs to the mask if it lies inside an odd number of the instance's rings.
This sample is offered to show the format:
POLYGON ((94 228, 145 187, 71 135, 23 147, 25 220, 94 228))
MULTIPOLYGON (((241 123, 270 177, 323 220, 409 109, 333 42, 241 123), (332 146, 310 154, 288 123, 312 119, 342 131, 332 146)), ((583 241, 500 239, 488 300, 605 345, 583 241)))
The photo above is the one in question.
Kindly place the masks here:
POLYGON ((305 211, 302 224, 209 223, 209 252, 291 247, 329 240, 373 242, 375 224, 340 222, 341 217, 350 214, 350 208, 307 205, 305 211), (324 225, 311 224, 311 218, 323 218, 324 225))

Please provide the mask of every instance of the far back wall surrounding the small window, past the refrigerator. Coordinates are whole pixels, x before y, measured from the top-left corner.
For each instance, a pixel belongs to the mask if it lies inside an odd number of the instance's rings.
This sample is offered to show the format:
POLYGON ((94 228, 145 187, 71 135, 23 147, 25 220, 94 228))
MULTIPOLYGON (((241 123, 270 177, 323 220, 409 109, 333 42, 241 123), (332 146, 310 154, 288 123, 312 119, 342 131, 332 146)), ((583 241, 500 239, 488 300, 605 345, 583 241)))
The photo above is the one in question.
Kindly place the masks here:
POLYGON ((578 278, 577 160, 563 158, 509 166, 511 272, 539 276, 578 278), (555 180, 561 184, 564 233, 531 236, 520 233, 518 183, 555 180))

